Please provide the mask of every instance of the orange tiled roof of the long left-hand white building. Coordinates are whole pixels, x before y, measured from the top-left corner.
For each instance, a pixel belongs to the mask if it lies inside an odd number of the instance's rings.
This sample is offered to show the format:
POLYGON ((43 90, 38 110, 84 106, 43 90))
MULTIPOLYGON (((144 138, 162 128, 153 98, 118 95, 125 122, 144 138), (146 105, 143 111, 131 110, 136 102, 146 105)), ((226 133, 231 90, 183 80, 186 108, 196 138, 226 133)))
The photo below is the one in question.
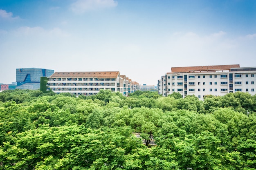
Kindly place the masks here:
POLYGON ((117 78, 119 71, 92 71, 92 72, 55 72, 51 75, 51 78, 60 78, 60 77, 97 77, 97 78, 117 78))

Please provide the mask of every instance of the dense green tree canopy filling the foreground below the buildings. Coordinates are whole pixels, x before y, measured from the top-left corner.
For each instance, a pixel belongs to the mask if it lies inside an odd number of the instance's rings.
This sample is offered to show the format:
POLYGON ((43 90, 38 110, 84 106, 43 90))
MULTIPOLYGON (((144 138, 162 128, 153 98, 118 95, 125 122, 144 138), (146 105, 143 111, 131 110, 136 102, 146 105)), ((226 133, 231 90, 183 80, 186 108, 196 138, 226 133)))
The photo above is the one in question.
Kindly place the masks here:
POLYGON ((3 91, 0 170, 254 170, 255 112, 241 92, 3 91))

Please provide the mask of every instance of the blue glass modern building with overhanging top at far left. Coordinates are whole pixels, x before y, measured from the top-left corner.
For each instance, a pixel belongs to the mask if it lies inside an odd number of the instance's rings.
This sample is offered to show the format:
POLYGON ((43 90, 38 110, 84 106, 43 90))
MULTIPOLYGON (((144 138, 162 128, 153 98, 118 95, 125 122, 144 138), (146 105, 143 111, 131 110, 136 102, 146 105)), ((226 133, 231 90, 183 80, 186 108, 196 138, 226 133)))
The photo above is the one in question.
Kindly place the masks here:
POLYGON ((16 68, 16 89, 40 89, 40 77, 49 77, 54 70, 45 68, 16 68))

